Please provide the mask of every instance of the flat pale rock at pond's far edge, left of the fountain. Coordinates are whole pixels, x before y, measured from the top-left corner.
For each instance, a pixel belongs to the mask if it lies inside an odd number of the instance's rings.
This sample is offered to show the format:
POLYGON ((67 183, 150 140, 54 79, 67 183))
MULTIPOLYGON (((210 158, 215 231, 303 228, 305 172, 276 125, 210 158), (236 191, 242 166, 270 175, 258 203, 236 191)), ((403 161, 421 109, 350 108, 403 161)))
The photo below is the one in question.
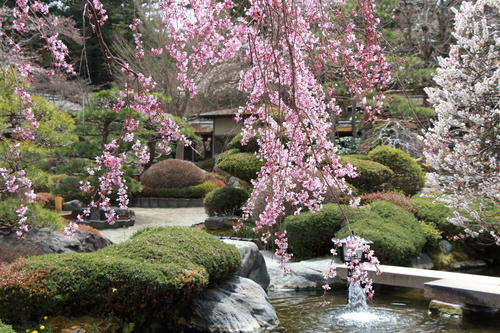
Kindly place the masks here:
MULTIPOLYGON (((279 261, 271 251, 261 251, 271 277, 269 289, 271 290, 312 290, 321 289, 325 280, 323 275, 332 260, 331 257, 315 258, 298 262, 287 263, 290 269, 284 274, 279 261)), ((340 279, 327 281, 328 283, 342 283, 340 279)))

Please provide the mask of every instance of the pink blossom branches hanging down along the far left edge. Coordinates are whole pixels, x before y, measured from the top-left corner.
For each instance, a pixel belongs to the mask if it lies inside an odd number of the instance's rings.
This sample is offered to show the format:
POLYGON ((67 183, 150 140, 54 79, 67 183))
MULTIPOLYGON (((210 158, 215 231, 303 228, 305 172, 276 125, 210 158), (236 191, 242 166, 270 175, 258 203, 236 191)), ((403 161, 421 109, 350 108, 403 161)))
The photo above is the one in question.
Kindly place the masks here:
MULTIPOLYGON (((75 74, 72 65, 66 61, 68 49, 55 32, 59 23, 56 17, 49 14, 47 5, 38 0, 16 0, 14 8, 0 8, 0 53, 3 56, 8 55, 4 59, 4 64, 17 67, 19 75, 28 82, 32 81, 35 68, 37 71, 44 71, 47 75, 54 75, 56 70, 62 70, 66 74, 75 74), (24 50, 20 40, 31 38, 33 35, 45 41, 46 49, 52 55, 53 68, 42 69, 30 63, 33 55, 24 50)), ((35 195, 26 172, 20 170, 15 161, 21 158, 19 151, 21 142, 35 139, 38 120, 31 109, 33 101, 26 84, 18 82, 14 92, 23 107, 24 121, 13 128, 14 135, 10 141, 14 163, 9 169, 0 169, 2 185, 0 192, 19 199, 19 207, 16 210, 19 217, 16 233, 18 238, 23 238, 24 233, 29 230, 26 215, 28 204, 34 203, 35 195)))

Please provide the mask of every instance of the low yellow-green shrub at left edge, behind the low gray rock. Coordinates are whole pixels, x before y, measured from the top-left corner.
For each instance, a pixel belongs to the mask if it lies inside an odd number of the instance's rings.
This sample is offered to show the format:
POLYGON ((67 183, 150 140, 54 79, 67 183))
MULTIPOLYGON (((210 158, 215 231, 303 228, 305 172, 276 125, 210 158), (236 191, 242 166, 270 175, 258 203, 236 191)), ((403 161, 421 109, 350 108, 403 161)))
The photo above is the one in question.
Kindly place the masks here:
MULTIPOLYGON (((16 230, 19 216, 16 209, 19 207, 17 199, 4 199, 0 201, 0 228, 16 230)), ((64 220, 53 210, 42 208, 40 204, 28 204, 26 223, 31 228, 49 228, 61 231, 64 220)))

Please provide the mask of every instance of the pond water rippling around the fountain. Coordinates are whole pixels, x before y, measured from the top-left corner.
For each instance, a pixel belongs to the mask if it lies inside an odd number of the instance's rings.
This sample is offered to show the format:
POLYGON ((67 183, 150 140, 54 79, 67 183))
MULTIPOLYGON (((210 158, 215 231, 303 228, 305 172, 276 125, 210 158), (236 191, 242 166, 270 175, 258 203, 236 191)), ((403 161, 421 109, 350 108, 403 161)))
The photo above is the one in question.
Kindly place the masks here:
POLYGON ((423 291, 380 287, 366 311, 346 310, 346 290, 335 290, 331 305, 320 307, 321 292, 270 292, 281 325, 273 332, 460 332, 498 333, 500 313, 468 313, 464 318, 431 317, 423 291))

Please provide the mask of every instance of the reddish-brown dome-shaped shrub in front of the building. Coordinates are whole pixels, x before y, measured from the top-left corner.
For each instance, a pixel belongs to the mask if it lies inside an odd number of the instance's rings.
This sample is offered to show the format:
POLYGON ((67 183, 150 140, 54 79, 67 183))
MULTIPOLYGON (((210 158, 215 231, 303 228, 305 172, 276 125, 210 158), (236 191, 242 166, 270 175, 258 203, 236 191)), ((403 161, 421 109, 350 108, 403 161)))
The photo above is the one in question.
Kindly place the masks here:
POLYGON ((191 162, 168 159, 153 164, 141 176, 144 186, 158 188, 188 187, 201 184, 205 171, 191 162))

